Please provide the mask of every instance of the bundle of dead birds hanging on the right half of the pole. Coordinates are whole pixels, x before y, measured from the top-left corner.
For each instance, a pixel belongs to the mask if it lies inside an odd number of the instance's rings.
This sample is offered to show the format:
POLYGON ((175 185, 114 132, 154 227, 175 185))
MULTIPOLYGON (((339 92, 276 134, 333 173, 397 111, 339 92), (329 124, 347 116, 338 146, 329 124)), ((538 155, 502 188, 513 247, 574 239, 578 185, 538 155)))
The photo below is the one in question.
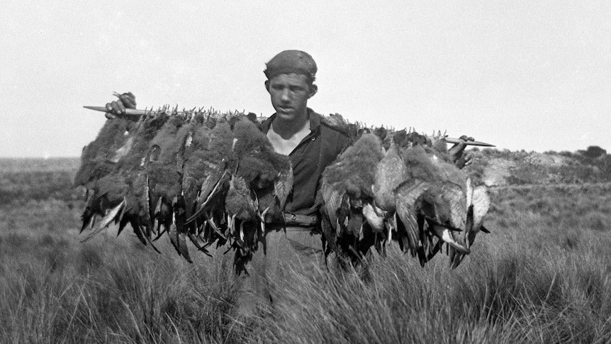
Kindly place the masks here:
MULTIPOLYGON (((342 118, 333 125, 347 126, 342 118)), ((422 267, 446 248, 452 268, 471 252, 490 199, 452 162, 444 135, 351 130, 354 143, 323 173, 325 252, 360 262, 396 242, 422 267)))

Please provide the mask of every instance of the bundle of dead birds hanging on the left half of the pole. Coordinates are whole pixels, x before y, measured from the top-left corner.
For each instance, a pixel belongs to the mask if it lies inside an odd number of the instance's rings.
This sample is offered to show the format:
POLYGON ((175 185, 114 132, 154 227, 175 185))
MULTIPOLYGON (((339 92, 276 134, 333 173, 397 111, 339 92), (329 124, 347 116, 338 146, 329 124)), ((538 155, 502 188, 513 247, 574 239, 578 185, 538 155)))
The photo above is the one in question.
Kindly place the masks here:
POLYGON ((281 213, 292 178, 290 160, 252 114, 159 109, 109 119, 74 179, 87 190, 83 241, 130 225, 153 248, 168 236, 189 262, 188 241, 203 253, 229 243, 243 271, 264 248, 265 214, 281 213))

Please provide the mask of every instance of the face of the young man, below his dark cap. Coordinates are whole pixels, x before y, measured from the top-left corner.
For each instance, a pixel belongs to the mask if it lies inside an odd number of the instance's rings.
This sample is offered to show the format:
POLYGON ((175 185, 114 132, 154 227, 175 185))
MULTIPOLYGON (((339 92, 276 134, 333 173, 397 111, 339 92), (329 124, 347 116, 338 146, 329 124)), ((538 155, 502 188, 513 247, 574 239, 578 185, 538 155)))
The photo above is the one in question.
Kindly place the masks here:
POLYGON ((317 87, 308 83, 308 77, 302 74, 279 74, 267 80, 265 87, 271 96, 271 105, 276 116, 292 120, 306 116, 308 99, 316 94, 317 87))

